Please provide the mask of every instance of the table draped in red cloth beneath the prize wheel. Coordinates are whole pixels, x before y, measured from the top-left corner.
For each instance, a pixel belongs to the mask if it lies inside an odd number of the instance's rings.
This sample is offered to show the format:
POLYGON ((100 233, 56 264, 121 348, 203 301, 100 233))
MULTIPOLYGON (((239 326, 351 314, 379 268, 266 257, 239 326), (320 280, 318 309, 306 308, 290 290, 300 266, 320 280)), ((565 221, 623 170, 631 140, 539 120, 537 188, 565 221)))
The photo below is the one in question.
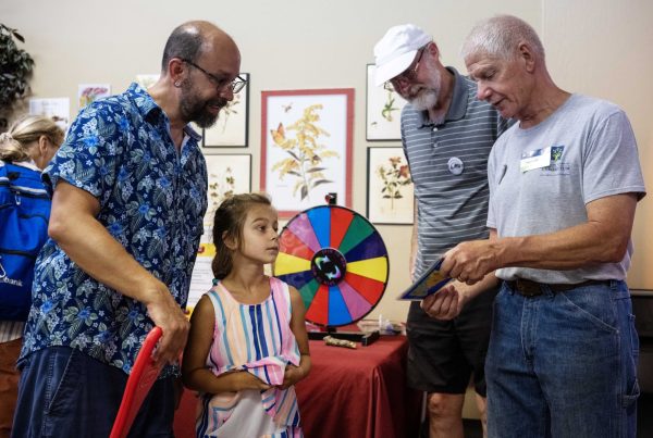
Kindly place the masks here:
MULTIPOLYGON (((418 435, 422 393, 406 387, 405 336, 382 336, 356 350, 310 341, 312 368, 295 387, 306 438, 403 438, 418 435)), ((197 398, 185 390, 177 438, 194 437, 197 398)))

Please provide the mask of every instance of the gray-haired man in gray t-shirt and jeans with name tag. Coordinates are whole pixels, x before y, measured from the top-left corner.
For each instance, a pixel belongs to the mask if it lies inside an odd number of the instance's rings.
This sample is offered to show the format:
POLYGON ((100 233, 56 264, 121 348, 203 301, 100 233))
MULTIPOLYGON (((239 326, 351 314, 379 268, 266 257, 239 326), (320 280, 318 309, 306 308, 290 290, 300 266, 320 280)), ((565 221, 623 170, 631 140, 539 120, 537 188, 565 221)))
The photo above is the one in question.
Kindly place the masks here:
MULTIPOLYGON (((630 231, 645 189, 616 105, 558 88, 534 30, 514 16, 477 25, 463 53, 479 98, 518 121, 490 154, 489 240, 442 270, 498 278, 485 362, 489 437, 634 437, 637 333, 630 231)), ((457 295, 424 300, 455 314, 457 295)))

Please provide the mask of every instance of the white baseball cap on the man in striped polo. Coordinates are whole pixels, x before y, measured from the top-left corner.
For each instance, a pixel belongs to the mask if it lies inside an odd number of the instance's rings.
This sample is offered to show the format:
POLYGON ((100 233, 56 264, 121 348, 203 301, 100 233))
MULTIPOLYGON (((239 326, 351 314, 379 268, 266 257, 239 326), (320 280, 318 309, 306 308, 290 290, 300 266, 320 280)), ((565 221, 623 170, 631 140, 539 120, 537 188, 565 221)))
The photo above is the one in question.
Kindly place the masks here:
POLYGON ((402 24, 387 29, 374 46, 374 85, 380 86, 410 66, 417 51, 433 39, 414 24, 402 24))

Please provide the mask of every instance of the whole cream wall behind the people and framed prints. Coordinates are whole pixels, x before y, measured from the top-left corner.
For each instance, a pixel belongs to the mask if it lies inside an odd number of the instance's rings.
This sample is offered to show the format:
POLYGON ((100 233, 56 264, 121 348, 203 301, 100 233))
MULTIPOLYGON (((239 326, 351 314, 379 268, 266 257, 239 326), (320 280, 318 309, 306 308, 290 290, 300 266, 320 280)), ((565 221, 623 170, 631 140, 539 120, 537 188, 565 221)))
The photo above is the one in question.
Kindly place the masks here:
MULTIPOLYGON (((392 25, 412 22, 435 37, 443 61, 465 71, 458 48, 475 22, 512 13, 540 33, 553 77, 568 90, 604 97, 631 117, 642 163, 651 161, 653 132, 644 104, 653 97, 653 30, 646 0, 186 0, 97 1, 2 0, 0 22, 20 29, 24 48, 36 61, 35 97, 69 97, 75 107, 77 84, 110 83, 113 92, 136 74, 158 73, 172 28, 187 20, 209 20, 238 43, 243 72, 251 74, 249 148, 210 152, 251 153, 252 187, 259 187, 260 91, 304 88, 355 88, 354 204, 365 214, 368 146, 365 136, 366 64, 372 47, 392 25)), ((74 116, 76 108, 71 111, 74 116)), ((389 142, 387 146, 398 143, 389 142)), ((651 166, 651 165, 650 165, 651 166)), ((652 168, 646 171, 651 182, 652 168)), ((639 208, 637 254, 631 284, 653 288, 653 242, 644 224, 653 212, 639 208), (645 251, 644 251, 645 250, 645 251), (646 255, 648 254, 648 255, 646 255)), ((382 313, 405 320, 407 305, 395 300, 408 284, 410 227, 379 226, 390 250, 391 276, 382 313)))

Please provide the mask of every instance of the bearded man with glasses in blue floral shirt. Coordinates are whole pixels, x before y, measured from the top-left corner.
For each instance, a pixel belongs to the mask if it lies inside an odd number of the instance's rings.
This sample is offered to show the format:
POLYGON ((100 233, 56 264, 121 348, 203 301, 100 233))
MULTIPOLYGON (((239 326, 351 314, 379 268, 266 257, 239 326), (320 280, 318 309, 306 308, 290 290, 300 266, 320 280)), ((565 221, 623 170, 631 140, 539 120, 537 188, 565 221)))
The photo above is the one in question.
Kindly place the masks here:
POLYGON ((153 325, 165 364, 132 431, 173 436, 176 361, 207 209, 200 136, 239 90, 241 54, 207 22, 174 29, 159 80, 86 107, 45 172, 50 239, 37 261, 13 435, 109 436, 153 325))

